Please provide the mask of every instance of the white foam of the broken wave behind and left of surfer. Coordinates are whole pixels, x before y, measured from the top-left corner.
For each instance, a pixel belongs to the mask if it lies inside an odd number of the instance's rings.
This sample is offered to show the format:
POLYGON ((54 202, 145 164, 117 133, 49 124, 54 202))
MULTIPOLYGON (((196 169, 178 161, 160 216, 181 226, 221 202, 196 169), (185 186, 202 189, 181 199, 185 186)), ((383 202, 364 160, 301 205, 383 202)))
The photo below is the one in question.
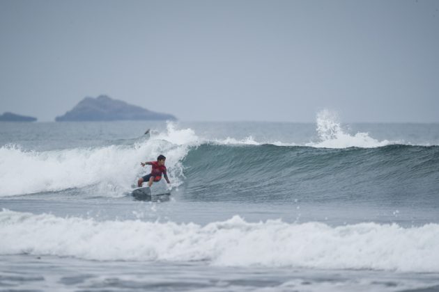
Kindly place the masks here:
POLYGON ((153 161, 159 154, 167 156, 172 186, 181 184, 180 161, 197 145, 199 139, 191 129, 167 131, 134 145, 63 149, 29 152, 15 146, 0 148, 0 196, 58 191, 94 186, 93 195, 123 195, 140 175, 149 169, 141 161, 153 161))

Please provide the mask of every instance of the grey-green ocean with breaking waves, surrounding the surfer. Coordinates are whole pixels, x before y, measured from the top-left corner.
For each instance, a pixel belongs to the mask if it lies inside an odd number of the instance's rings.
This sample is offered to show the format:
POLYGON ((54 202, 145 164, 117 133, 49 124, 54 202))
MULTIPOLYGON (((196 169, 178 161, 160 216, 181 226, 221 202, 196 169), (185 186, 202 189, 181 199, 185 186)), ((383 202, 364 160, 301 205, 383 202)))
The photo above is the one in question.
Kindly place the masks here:
POLYGON ((1 122, 0 291, 439 291, 439 124, 1 122))

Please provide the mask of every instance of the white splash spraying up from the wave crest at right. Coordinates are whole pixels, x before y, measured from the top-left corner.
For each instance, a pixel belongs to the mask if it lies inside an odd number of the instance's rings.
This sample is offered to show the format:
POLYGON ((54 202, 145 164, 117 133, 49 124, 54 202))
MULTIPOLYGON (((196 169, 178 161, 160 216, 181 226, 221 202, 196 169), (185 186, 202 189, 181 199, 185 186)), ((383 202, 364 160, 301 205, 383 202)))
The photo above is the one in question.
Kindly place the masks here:
POLYGON ((317 143, 307 143, 307 146, 318 148, 347 148, 347 147, 382 147, 392 144, 388 140, 379 141, 371 138, 368 133, 350 135, 341 128, 337 114, 328 110, 317 113, 317 133, 320 139, 317 143))

